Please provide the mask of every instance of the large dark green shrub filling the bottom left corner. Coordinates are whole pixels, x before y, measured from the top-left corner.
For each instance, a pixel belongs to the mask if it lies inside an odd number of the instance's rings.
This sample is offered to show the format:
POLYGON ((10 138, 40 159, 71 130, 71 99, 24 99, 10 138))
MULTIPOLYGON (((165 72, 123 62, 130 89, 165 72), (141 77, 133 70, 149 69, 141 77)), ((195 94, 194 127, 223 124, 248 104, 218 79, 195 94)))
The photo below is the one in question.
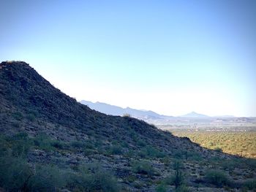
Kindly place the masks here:
POLYGON ((7 191, 23 191, 33 172, 23 158, 6 155, 0 158, 0 186, 7 191))

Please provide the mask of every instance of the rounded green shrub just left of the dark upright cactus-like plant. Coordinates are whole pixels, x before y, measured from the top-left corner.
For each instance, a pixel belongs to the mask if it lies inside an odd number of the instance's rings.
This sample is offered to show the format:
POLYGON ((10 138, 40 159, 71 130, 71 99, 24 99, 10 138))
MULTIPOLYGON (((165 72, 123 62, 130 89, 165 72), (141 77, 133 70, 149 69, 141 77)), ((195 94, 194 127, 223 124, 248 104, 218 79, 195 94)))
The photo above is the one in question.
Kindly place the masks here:
POLYGON ((148 174, 153 176, 155 173, 155 170, 149 161, 137 161, 133 164, 132 169, 138 174, 148 174))

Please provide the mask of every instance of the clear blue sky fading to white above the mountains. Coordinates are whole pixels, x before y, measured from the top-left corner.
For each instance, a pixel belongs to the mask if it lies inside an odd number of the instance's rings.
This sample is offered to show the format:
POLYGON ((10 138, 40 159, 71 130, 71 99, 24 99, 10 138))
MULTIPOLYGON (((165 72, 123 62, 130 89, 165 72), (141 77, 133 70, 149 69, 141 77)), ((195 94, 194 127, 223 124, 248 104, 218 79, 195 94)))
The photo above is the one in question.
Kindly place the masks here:
POLYGON ((256 116, 256 1, 0 1, 0 61, 76 99, 256 116))

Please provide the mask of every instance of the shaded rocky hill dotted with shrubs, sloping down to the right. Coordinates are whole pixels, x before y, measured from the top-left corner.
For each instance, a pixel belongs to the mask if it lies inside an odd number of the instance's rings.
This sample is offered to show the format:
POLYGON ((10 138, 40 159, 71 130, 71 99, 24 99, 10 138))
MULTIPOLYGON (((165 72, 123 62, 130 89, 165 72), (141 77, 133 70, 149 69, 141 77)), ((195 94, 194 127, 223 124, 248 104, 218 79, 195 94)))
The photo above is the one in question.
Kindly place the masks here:
POLYGON ((0 64, 0 132, 0 187, 7 191, 255 185, 255 161, 207 150, 142 120, 91 110, 21 61, 0 64))

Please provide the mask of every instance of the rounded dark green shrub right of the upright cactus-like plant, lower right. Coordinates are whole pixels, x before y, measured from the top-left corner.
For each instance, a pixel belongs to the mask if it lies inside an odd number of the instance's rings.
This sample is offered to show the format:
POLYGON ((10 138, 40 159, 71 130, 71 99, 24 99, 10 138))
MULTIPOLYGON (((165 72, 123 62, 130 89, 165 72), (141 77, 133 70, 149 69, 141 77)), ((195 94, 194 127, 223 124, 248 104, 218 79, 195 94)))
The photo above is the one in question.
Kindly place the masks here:
POLYGON ((217 187, 222 187, 228 183, 227 175, 221 170, 210 169, 206 172, 205 178, 208 183, 217 185, 217 187))

